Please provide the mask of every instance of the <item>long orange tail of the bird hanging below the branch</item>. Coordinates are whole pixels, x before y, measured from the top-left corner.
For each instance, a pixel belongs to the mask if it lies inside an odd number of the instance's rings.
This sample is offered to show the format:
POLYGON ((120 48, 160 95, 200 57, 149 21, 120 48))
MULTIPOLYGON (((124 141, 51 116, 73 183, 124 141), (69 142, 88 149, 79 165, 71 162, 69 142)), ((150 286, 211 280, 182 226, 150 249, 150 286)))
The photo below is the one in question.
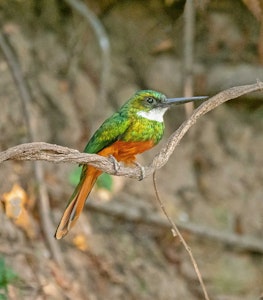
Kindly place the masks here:
POLYGON ((55 233, 56 239, 59 240, 63 238, 74 226, 83 210, 85 201, 94 183, 96 182, 96 179, 101 173, 101 171, 95 169, 94 167, 83 167, 80 182, 75 188, 75 191, 73 192, 57 227, 55 233))

